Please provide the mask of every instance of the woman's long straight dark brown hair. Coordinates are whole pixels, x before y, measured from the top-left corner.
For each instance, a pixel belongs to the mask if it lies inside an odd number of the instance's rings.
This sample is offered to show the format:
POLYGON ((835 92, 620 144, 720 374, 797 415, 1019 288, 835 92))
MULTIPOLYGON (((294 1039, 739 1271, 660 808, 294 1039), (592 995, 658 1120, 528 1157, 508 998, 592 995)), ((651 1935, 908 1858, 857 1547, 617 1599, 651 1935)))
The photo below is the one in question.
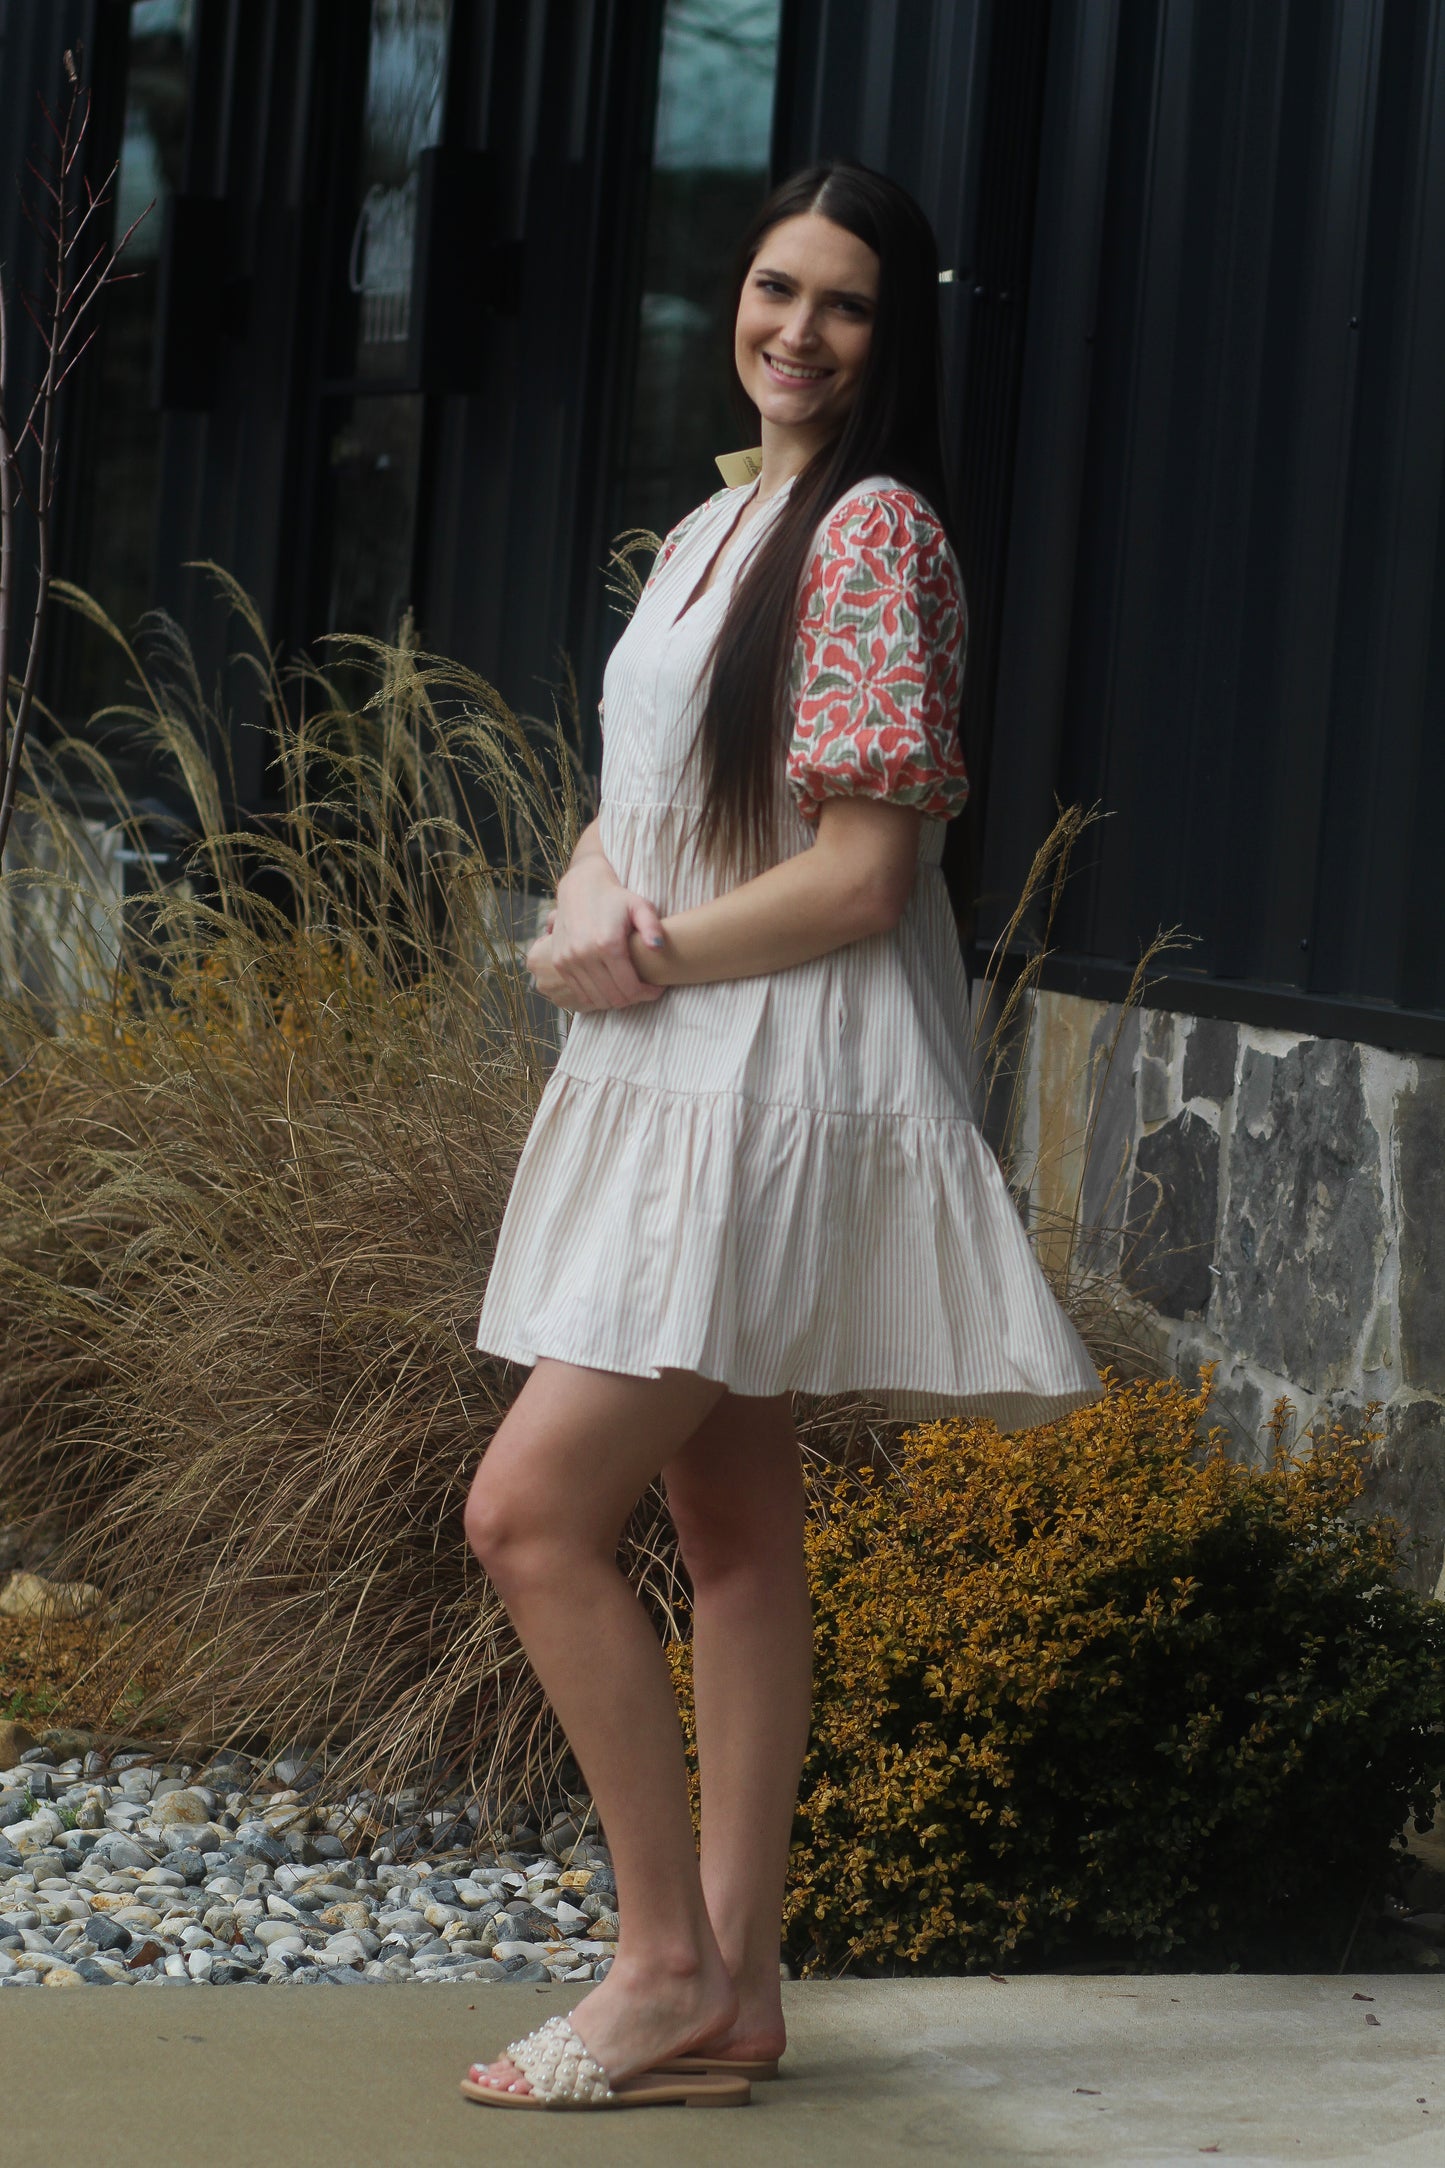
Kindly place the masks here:
POLYGON ((884 173, 830 160, 784 180, 743 236, 734 314, 767 234, 817 212, 856 234, 880 262, 873 338, 858 397, 832 442, 793 481, 786 505, 739 579, 713 646, 693 739, 702 776, 695 837, 737 878, 767 863, 789 666, 812 540, 830 507, 869 475, 919 490, 949 527, 938 414, 938 245, 912 195, 884 173))

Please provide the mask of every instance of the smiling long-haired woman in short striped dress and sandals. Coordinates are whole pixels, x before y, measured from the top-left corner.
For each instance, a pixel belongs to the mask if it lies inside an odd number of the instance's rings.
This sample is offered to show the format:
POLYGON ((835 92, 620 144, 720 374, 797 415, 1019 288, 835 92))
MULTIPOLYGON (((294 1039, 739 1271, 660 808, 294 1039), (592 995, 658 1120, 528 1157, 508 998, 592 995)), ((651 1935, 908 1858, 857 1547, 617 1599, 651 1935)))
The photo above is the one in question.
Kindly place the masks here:
POLYGON ((791 1392, 1016 1429, 1098 1390, 968 1112, 934 236, 893 182, 825 165, 743 267, 760 473, 659 553, 607 668, 600 813, 526 958, 576 1019, 479 1327, 533 1368, 466 1528, 591 1786, 622 1943, 574 2029, 472 2068, 505 2105, 745 2101, 782 2053, 810 1682, 791 1392), (695 1602, 702 1862, 615 1565, 659 1472, 695 1602))

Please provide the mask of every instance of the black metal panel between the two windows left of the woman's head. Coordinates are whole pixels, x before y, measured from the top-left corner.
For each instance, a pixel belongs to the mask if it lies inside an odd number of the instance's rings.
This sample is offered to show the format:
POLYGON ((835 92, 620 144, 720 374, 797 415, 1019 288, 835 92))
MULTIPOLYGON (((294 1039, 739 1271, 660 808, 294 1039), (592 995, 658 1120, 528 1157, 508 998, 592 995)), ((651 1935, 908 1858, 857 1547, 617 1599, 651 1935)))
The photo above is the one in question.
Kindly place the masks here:
POLYGON ((472 126, 522 241, 516 319, 483 390, 444 401, 429 635, 546 713, 602 650, 611 444, 622 427, 661 0, 531 0, 490 17, 472 126))

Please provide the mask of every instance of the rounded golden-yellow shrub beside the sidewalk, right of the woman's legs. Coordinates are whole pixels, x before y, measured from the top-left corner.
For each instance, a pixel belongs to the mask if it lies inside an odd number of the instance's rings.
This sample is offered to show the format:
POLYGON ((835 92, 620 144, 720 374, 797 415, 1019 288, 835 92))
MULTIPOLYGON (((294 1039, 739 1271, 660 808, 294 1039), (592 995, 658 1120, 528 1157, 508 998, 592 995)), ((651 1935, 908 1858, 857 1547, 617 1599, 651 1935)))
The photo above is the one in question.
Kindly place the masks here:
POLYGON ((1356 1444, 1244 1468, 1200 1448, 1205 1409, 1111 1385, 1014 1437, 925 1424, 895 1472, 825 1483, 795 1960, 1339 1960, 1430 1812, 1445 1606, 1350 1518, 1356 1444))

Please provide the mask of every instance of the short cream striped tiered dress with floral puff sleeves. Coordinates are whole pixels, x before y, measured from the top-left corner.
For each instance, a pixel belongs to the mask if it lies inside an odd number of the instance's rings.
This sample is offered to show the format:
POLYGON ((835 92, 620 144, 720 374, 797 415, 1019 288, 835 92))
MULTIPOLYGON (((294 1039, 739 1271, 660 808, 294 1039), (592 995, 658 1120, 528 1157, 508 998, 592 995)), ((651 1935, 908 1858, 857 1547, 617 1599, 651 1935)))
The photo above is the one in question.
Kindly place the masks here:
MULTIPOLYGON (((600 841, 667 915, 717 893, 680 850, 700 687, 769 501, 693 592, 747 490, 669 535, 604 676, 600 841), (691 607, 689 607, 691 601, 691 607)), ((968 989, 938 869, 962 804, 958 566, 888 477, 819 529, 773 854, 821 800, 925 811, 901 924, 758 978, 572 1019, 487 1279, 477 1346, 739 1394, 875 1394, 893 1414, 1046 1422, 1098 1392, 968 1101, 968 989)))

